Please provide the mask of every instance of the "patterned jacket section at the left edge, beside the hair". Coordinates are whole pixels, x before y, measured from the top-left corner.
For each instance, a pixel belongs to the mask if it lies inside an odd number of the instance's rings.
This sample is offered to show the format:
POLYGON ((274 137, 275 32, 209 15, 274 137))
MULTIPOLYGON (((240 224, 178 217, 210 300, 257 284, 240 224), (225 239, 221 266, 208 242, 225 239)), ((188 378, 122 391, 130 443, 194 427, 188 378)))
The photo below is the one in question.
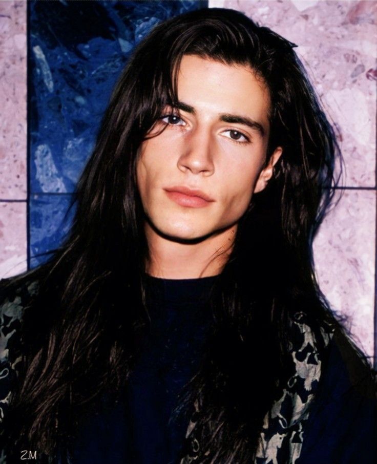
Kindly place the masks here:
POLYGON ((10 278, 0 280, 0 422, 6 413, 20 362, 20 326, 24 309, 37 292, 37 282, 10 278))

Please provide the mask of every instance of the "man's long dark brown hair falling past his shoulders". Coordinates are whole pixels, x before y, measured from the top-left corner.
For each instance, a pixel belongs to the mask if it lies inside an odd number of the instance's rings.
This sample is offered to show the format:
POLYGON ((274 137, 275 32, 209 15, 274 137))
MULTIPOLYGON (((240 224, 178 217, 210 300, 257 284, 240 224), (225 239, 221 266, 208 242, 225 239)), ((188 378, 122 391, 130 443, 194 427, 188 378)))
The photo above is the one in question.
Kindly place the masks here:
POLYGON ((177 101, 184 54, 253 68, 271 96, 266 163, 283 147, 273 179, 239 222, 216 280, 206 354, 182 397, 182 405, 200 399, 203 450, 211 444, 222 463, 252 458, 284 384, 292 312, 304 310, 313 331, 336 323, 316 282, 312 240, 333 197, 340 151, 294 44, 233 10, 178 16, 139 44, 117 83, 77 184, 65 243, 12 280, 37 280, 39 288, 23 318, 22 368, 8 414, 13 444, 53 454, 80 411, 105 390, 119 392, 132 372, 148 327, 135 167, 148 131, 177 101))

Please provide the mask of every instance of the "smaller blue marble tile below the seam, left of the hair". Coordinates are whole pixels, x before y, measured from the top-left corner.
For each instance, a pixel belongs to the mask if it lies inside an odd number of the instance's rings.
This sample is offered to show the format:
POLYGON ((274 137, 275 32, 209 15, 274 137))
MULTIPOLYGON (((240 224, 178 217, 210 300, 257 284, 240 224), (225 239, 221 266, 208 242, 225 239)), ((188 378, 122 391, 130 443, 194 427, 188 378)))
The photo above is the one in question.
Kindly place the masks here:
POLYGON ((32 195, 30 197, 30 267, 46 262, 44 255, 57 248, 68 234, 74 207, 69 210, 71 195, 32 195))

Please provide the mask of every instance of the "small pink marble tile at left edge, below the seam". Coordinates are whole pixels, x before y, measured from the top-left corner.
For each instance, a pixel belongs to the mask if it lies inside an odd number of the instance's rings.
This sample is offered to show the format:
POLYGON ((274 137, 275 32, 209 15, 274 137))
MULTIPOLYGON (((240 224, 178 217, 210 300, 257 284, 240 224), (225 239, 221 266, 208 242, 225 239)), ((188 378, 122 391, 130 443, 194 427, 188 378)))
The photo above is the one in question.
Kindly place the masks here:
POLYGON ((27 268, 26 202, 0 202, 0 279, 27 268))

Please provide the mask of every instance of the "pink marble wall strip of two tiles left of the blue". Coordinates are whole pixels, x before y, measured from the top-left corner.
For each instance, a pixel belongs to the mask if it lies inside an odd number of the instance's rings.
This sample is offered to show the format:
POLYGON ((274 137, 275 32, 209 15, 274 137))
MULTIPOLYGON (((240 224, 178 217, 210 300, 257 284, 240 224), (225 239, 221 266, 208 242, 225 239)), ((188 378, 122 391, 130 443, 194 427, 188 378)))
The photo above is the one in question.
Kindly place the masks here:
POLYGON ((0 277, 27 268, 26 2, 0 2, 0 277))

